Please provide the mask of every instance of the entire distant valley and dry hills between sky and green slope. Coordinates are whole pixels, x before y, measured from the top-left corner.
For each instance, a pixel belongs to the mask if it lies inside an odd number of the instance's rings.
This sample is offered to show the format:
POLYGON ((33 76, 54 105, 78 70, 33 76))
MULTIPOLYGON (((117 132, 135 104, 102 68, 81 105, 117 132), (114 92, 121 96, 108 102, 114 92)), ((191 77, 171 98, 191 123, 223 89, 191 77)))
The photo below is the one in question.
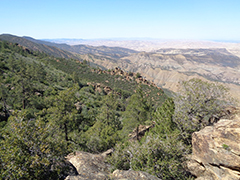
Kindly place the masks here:
MULTIPOLYGON (((4 39, 6 35, 1 35, 0 38, 4 39)), ((61 49, 62 53, 71 53, 68 54, 70 58, 87 60, 102 69, 120 67, 125 71, 140 72, 146 79, 171 91, 178 90, 179 81, 193 77, 219 81, 231 89, 234 97, 239 98, 240 44, 238 43, 71 39, 47 42, 14 36, 7 39, 22 43, 23 46, 26 46, 26 42, 34 43, 28 48, 39 44, 56 47, 61 49), (22 42, 23 39, 26 42, 22 42)))

